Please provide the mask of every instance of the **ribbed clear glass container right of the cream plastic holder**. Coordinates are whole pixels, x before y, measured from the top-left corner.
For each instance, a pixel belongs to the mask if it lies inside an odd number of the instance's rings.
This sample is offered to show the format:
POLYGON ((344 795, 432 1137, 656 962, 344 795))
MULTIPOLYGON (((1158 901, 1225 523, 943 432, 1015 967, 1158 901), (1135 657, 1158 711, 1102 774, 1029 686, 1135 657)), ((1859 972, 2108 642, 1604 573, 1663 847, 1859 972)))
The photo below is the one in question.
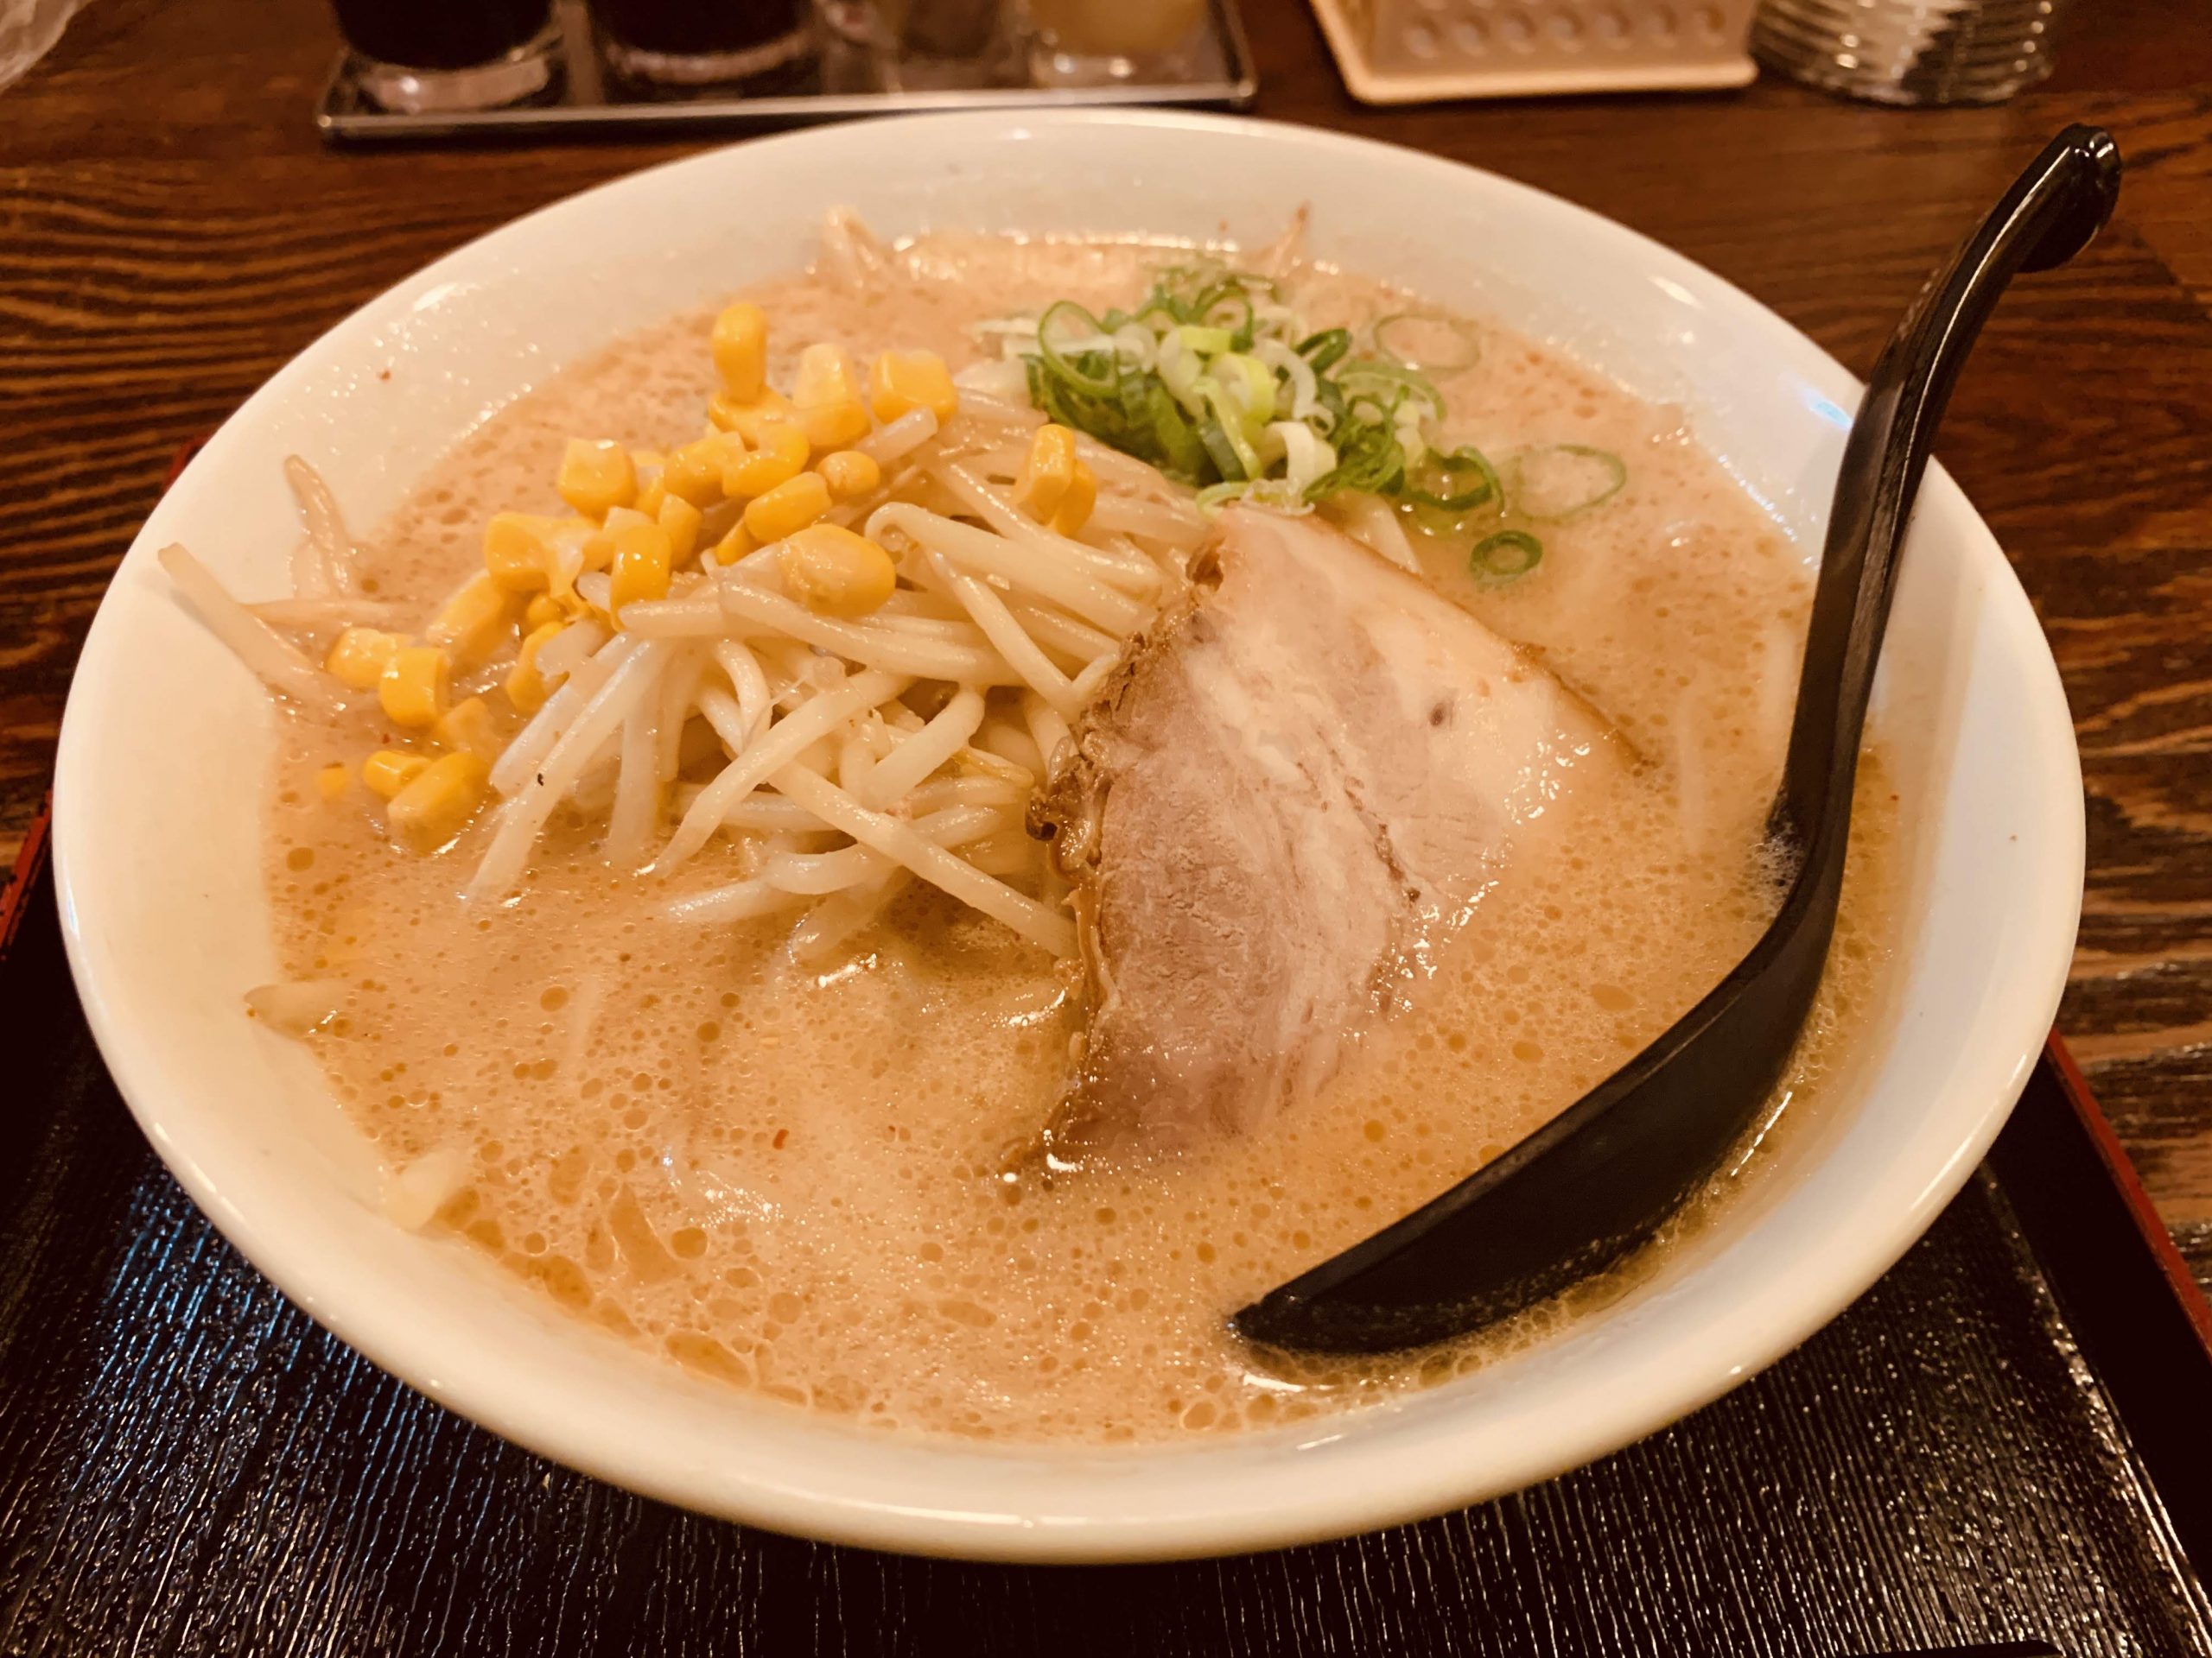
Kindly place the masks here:
MULTIPOLYGON (((2070 0, 1763 0, 1759 62, 1878 104, 2002 104, 2051 73, 2070 0)), ((2177 29, 2212 27, 2174 18, 2177 29)))

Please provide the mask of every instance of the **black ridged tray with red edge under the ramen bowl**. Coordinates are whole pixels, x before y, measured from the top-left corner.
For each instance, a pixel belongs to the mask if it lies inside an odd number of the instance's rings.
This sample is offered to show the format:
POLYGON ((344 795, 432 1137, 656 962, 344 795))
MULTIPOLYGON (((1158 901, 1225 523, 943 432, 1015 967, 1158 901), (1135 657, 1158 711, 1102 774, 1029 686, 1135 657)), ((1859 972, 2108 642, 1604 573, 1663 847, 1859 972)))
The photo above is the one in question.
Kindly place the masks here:
POLYGON ((2212 1318, 2064 1050, 1827 1331, 1606 1461, 1321 1547, 869 1554, 546 1463, 290 1307, 170 1180, 62 959, 0 957, 0 1654, 2212 1654, 2212 1318))

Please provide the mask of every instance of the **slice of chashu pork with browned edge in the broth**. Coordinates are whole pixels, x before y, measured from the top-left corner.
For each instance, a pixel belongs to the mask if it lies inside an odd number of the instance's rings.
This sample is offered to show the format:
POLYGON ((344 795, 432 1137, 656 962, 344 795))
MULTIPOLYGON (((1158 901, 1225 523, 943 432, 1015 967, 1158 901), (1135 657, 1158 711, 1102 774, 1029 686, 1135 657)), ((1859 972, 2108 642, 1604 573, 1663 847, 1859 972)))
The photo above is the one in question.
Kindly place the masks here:
POLYGON ((1312 517, 1232 508, 1199 570, 1033 811, 1091 977, 1062 1156, 1312 1094, 1624 765, 1542 665, 1312 517))

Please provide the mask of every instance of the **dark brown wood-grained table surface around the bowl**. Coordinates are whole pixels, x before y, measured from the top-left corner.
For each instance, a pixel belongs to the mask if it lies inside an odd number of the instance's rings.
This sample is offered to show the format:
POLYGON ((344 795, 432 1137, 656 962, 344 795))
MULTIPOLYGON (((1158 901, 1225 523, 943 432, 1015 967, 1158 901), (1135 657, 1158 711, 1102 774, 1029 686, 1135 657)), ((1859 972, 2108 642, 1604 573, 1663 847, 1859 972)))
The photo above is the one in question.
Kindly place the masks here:
MULTIPOLYGON (((1245 0, 1261 113, 1588 203, 1865 369, 2044 137, 2110 126, 2119 219, 2020 285, 1942 460, 2026 581, 2088 776, 2059 1028, 2212 1280, 2212 29, 2084 0, 2046 88, 1900 113, 1741 95, 1367 111, 1298 0, 1245 0)), ((40 807, 77 643, 177 444, 456 243, 684 146, 330 153, 321 0, 95 0, 0 93, 0 851, 40 807)))

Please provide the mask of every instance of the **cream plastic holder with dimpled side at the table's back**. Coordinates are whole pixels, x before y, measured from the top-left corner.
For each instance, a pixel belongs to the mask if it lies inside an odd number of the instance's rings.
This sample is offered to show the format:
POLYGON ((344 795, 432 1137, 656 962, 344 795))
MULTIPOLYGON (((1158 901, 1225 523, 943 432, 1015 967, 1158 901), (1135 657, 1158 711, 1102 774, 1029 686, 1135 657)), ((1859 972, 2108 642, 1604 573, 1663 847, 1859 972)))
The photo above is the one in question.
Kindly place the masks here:
POLYGON ((1759 73, 1745 51, 1754 0, 1312 4, 1345 86, 1365 104, 1699 91, 1745 86, 1759 73))

